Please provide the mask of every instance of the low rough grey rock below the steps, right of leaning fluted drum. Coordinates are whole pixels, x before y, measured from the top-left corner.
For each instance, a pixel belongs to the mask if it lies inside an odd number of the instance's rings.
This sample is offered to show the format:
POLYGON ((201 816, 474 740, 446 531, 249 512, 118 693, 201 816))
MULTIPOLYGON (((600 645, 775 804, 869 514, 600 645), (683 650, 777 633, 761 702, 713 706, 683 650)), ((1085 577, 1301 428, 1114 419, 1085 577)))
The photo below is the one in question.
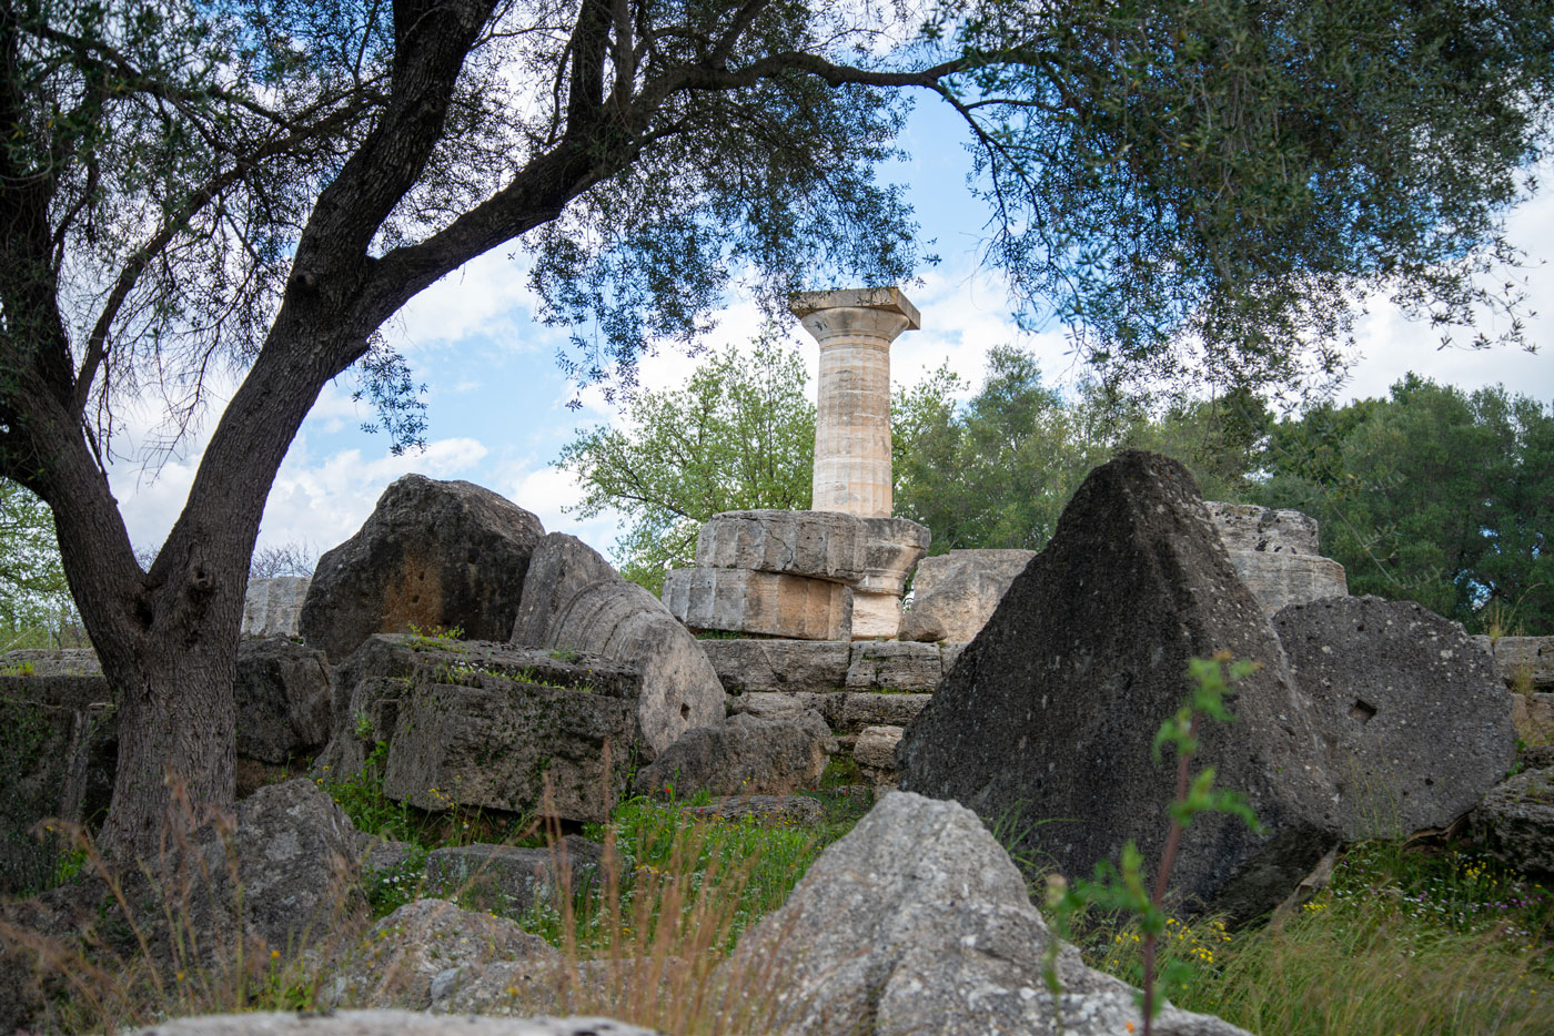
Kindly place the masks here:
POLYGON ((735 716, 729 724, 688 730, 637 770, 637 792, 673 786, 679 797, 786 795, 813 787, 836 750, 825 721, 814 711, 783 719, 735 716))

